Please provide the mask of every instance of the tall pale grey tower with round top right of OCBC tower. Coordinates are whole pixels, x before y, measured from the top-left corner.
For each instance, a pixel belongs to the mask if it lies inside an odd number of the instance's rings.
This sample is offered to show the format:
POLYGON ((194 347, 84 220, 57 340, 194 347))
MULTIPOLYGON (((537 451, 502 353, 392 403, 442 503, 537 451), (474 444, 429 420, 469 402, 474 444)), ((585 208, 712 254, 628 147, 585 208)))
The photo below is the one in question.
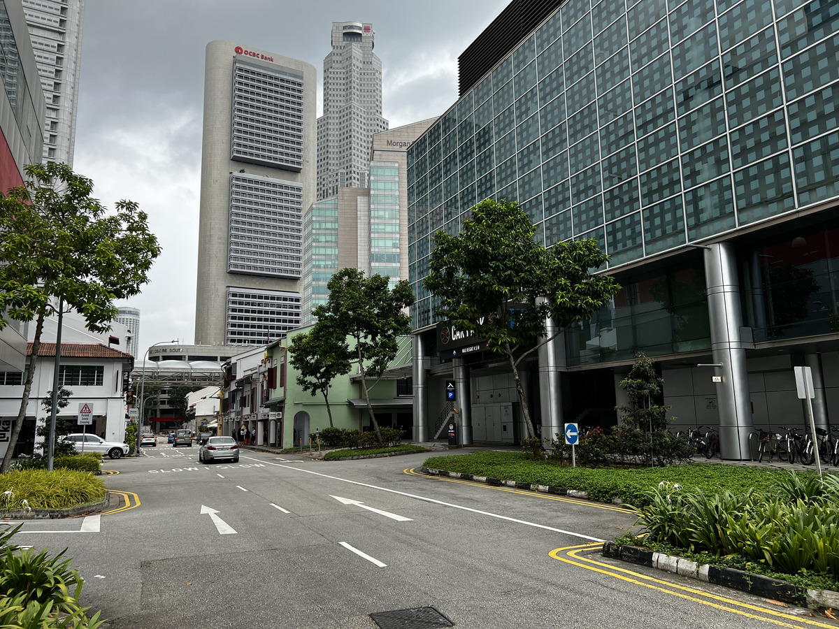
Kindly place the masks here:
POLYGON ((388 128, 374 34, 370 23, 332 23, 332 49, 323 60, 323 115, 317 119, 318 200, 339 188, 367 187, 371 138, 388 128))

